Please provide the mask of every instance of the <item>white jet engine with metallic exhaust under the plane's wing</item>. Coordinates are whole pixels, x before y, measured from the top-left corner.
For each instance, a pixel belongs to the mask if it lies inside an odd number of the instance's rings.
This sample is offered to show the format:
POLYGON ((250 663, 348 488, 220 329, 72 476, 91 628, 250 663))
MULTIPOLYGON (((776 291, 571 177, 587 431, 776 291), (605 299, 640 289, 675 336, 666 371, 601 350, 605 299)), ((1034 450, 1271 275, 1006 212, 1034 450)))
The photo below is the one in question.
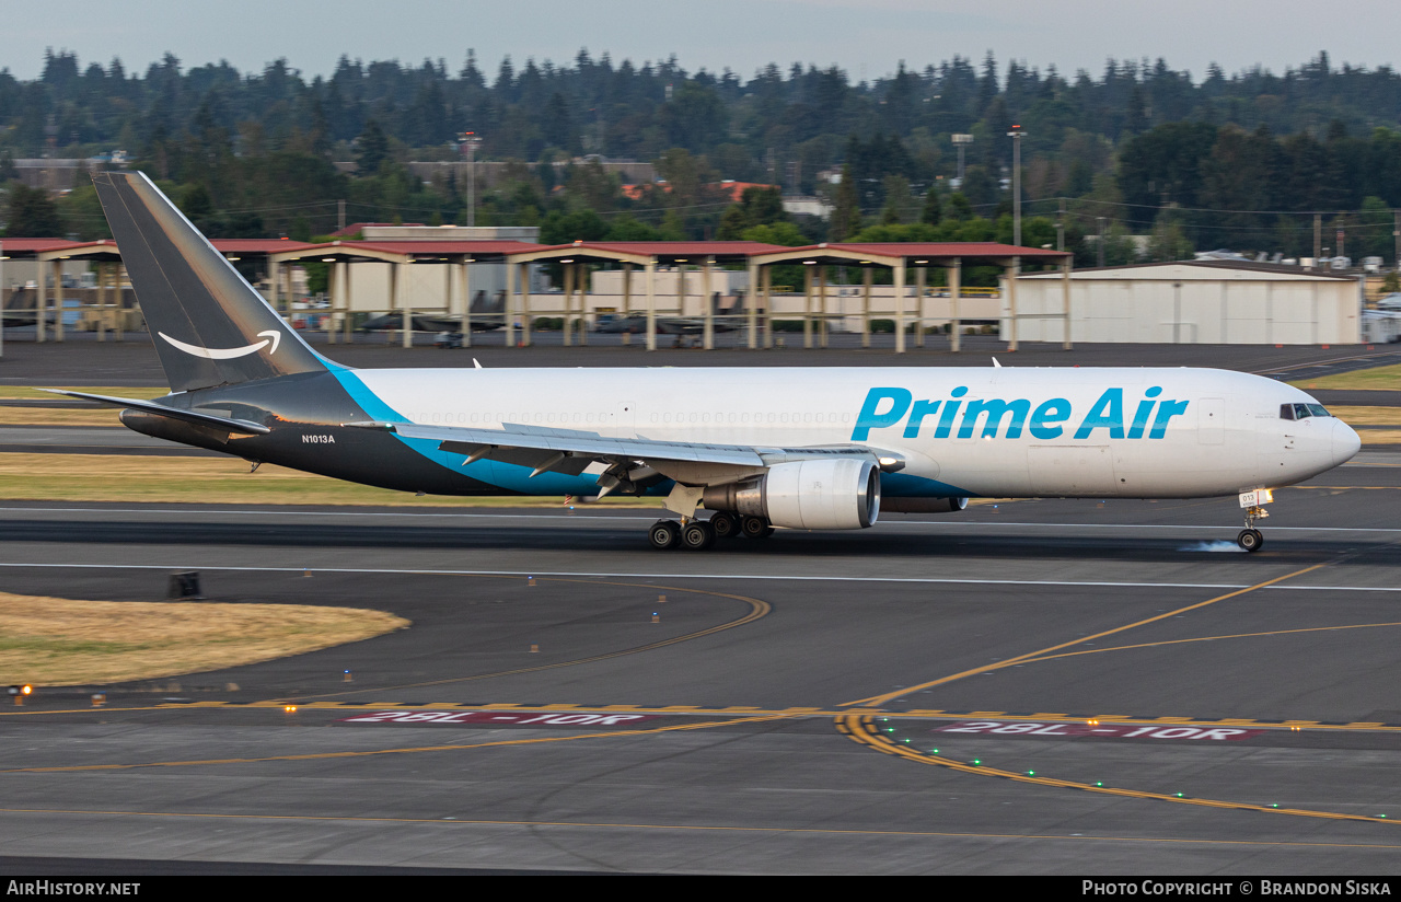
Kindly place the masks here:
POLYGON ((864 529, 880 517, 880 468, 857 458, 775 464, 755 479, 706 486, 702 503, 792 529, 864 529))

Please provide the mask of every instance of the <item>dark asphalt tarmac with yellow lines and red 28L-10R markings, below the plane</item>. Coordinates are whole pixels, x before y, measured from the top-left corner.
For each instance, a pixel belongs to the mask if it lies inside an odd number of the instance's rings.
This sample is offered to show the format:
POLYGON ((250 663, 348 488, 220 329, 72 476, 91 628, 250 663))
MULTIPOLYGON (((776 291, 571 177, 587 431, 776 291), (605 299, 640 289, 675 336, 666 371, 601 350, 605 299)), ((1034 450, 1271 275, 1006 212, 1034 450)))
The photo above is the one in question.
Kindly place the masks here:
POLYGON ((413 626, 0 712, 0 870, 1397 873, 1398 476, 1282 490, 1255 555, 1234 500, 706 553, 647 511, 7 503, 7 591, 413 626))

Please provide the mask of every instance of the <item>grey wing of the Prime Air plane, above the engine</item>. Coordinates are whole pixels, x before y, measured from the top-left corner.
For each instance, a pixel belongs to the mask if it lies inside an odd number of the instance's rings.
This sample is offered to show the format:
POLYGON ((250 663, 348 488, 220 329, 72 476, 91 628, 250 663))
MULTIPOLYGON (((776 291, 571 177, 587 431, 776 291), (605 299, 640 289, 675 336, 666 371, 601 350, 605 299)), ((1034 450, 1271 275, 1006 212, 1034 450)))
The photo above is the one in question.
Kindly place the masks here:
MULTIPOLYGON (((405 438, 439 443, 440 451, 464 454, 468 462, 503 461, 532 466, 532 476, 553 471, 580 475, 594 462, 628 469, 643 465, 686 485, 717 485, 762 472, 775 464, 813 458, 864 458, 883 469, 904 465, 898 455, 866 445, 813 445, 782 448, 772 445, 730 445, 698 441, 660 441, 651 438, 616 438, 598 433, 503 423, 502 429, 427 426, 419 423, 346 423, 361 429, 382 429, 405 438)), ((600 480, 605 483, 607 480, 600 480)))

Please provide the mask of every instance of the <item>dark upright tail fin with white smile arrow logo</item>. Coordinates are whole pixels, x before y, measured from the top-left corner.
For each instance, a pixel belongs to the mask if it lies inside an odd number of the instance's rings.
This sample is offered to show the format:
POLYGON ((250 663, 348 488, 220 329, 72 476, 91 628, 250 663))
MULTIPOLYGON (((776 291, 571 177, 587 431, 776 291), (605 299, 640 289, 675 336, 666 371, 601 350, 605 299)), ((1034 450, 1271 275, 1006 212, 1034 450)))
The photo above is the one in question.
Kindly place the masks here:
POLYGON ((92 182, 172 391, 328 368, 144 174, 92 182))

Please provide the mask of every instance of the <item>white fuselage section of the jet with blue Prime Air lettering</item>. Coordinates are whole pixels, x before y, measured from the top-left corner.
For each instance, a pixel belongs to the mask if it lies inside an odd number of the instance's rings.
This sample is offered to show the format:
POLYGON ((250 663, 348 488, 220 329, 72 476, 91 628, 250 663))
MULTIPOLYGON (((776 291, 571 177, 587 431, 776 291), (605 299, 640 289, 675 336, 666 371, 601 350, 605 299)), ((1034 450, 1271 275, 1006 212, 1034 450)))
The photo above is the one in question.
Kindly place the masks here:
MULTIPOLYGON (((904 458, 887 497, 1203 497, 1309 479, 1359 448, 1274 380, 1199 368, 360 370, 423 424, 502 423, 904 458)), ((541 486, 542 493, 555 489, 541 486)))

